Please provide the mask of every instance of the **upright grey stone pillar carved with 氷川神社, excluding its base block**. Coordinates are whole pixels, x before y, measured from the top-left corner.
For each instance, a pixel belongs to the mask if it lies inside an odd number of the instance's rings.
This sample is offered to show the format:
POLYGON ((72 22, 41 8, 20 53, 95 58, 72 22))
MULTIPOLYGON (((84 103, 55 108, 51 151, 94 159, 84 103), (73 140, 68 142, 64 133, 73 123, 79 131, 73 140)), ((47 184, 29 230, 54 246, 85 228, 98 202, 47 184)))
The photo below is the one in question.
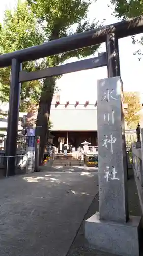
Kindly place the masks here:
POLYGON ((126 222, 127 169, 121 79, 99 80, 97 98, 100 219, 126 222))

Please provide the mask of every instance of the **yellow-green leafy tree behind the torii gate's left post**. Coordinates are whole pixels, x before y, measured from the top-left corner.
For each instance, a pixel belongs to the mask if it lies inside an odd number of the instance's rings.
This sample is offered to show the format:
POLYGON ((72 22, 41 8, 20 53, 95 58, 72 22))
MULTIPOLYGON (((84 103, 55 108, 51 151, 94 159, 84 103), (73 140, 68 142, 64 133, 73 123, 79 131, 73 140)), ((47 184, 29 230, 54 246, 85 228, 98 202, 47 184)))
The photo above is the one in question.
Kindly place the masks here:
MULTIPOLYGON (((37 26, 37 20, 27 2, 18 3, 14 12, 7 10, 0 30, 0 53, 9 53, 22 48, 41 44, 44 41, 43 33, 37 26)), ((34 71, 39 69, 36 61, 23 63, 24 70, 34 71)), ((21 111, 27 110, 28 104, 37 102, 41 93, 40 81, 26 82, 22 84, 21 111), (26 103, 25 98, 30 98, 26 103)), ((10 67, 0 69, 0 100, 9 100, 10 67)))

